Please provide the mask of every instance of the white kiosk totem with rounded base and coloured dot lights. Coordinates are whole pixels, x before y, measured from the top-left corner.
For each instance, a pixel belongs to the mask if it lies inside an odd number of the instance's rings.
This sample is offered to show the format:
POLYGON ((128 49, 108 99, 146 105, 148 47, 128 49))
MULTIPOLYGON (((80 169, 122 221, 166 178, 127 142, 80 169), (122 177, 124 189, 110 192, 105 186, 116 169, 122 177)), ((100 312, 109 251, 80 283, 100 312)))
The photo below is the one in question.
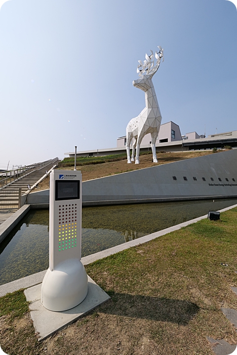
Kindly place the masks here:
POLYGON ((81 262, 82 174, 50 173, 49 269, 41 289, 43 306, 64 311, 87 296, 88 277, 81 262))

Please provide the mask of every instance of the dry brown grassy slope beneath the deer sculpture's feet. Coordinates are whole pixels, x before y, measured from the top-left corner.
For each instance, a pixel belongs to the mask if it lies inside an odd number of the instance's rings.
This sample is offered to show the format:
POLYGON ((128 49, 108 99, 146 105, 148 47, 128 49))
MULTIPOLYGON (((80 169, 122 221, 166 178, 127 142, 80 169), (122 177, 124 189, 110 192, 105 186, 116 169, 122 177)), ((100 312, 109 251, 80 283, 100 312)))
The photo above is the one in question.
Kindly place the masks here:
MULTIPOLYGON (((141 155, 140 164, 127 163, 127 159, 120 161, 113 161, 108 163, 96 164, 96 165, 78 165, 77 170, 82 171, 83 181, 98 179, 98 177, 104 177, 114 174, 119 174, 121 172, 127 172, 137 169, 148 168, 150 166, 173 163, 175 161, 202 157, 204 155, 213 154, 212 151, 188 151, 188 152, 174 152, 174 153, 157 153, 158 163, 153 163, 152 154, 141 155)), ((73 170, 74 166, 62 168, 65 170, 73 170)), ((49 189, 49 176, 38 186, 32 190, 40 191, 49 189)))

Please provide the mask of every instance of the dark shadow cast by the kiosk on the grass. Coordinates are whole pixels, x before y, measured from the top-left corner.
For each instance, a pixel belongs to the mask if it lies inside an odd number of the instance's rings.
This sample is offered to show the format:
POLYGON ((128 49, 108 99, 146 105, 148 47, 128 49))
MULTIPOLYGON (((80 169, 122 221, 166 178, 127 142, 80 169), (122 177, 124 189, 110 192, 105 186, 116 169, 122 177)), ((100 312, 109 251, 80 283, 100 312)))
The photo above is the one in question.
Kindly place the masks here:
POLYGON ((104 304, 101 310, 107 314, 171 322, 185 326, 200 310, 198 305, 186 300, 107 293, 112 303, 104 304))

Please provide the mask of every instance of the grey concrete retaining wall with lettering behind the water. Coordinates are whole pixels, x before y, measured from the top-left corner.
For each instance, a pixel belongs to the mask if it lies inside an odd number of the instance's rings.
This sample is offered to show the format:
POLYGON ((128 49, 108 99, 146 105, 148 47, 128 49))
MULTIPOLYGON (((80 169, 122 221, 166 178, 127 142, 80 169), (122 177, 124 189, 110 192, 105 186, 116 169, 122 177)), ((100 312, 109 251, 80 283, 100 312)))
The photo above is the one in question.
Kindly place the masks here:
MULTIPOLYGON (((82 186, 84 206, 237 197, 237 149, 101 177, 82 186)), ((49 189, 30 193, 27 203, 49 203, 49 189)))

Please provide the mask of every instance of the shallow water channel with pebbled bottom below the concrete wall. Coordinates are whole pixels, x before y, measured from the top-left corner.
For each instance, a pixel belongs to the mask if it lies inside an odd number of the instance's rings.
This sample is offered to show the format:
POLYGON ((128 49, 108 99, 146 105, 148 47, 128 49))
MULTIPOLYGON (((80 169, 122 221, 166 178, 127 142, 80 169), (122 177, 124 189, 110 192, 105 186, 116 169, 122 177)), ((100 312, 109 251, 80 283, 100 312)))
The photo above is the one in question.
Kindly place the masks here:
MULTIPOLYGON (((83 208, 82 257, 233 204, 236 199, 83 208)), ((0 285, 49 267, 49 210, 32 209, 0 244, 0 285)))

